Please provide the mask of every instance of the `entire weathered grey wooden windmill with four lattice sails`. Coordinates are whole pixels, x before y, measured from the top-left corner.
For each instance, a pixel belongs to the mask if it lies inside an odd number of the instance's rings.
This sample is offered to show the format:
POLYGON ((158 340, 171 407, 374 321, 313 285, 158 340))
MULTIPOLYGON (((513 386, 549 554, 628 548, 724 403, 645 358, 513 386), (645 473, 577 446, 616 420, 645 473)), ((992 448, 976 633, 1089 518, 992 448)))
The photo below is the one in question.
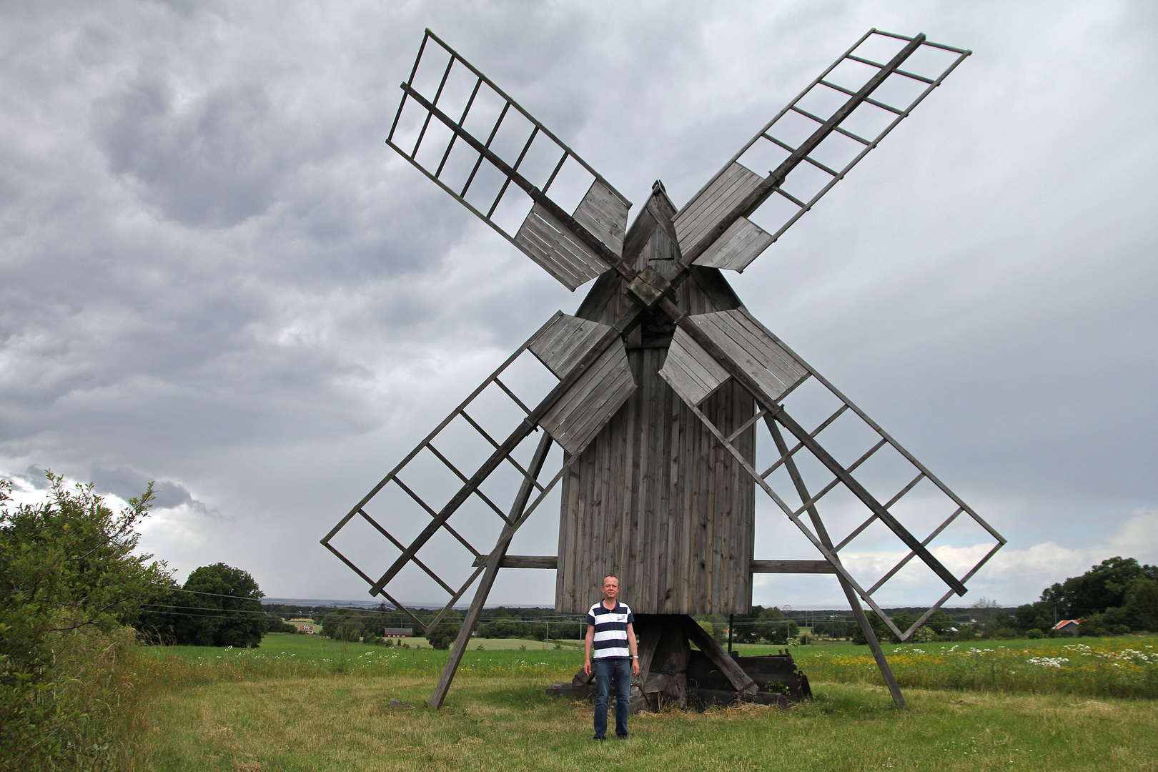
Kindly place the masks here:
POLYGON ((475 588, 433 707, 501 568, 556 569, 566 613, 617 574, 640 638, 633 693, 653 707, 686 704, 697 668, 761 693, 763 666, 688 615, 748 612, 754 574, 829 574, 903 706, 865 606, 906 640, 1005 539, 754 318, 721 271, 747 267, 969 53, 870 30, 687 204, 657 182, 628 227, 610 183, 426 30, 387 144, 569 289, 594 280, 322 539, 403 613, 391 588, 422 578, 445 593, 428 626, 475 588), (557 554, 508 554, 549 497, 557 554), (763 510, 798 529, 808 559, 754 554, 763 510), (968 565, 954 573, 940 547, 968 565), (877 600, 896 586, 936 598, 908 630, 877 600))

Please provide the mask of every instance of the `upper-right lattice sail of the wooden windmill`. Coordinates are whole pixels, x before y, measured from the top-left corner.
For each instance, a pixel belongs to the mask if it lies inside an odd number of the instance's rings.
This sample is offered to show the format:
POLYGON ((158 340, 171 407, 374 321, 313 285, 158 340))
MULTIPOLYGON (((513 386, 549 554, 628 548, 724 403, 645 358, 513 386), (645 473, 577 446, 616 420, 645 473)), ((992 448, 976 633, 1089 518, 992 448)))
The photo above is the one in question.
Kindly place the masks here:
POLYGON ((675 230, 684 259, 743 271, 969 53, 931 43, 924 35, 910 38, 877 29, 866 32, 676 214, 675 230), (887 61, 865 56, 886 41, 896 42, 900 49, 887 61), (902 69, 909 61, 918 63, 926 73, 902 69), (929 67, 936 71, 928 72, 929 67), (754 216, 771 222, 762 228, 754 216))

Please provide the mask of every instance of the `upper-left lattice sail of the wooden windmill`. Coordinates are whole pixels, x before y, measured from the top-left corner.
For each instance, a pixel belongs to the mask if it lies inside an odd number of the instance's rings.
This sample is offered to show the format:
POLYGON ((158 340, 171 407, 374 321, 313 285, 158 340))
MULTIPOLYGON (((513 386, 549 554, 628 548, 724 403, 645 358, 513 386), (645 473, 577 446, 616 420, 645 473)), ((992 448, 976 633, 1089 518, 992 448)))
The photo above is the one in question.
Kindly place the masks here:
POLYGON ((618 263, 631 203, 426 30, 387 145, 576 289, 618 263))

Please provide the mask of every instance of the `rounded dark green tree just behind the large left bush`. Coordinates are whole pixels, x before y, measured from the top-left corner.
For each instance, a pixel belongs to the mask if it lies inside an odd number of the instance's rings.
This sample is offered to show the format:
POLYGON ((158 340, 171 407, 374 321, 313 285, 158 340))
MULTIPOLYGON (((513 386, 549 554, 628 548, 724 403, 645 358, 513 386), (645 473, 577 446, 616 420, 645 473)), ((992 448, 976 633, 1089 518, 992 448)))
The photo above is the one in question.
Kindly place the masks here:
POLYGON ((267 628, 265 594, 249 572, 218 563, 195 569, 173 588, 160 612, 142 619, 162 642, 257 648, 267 628))

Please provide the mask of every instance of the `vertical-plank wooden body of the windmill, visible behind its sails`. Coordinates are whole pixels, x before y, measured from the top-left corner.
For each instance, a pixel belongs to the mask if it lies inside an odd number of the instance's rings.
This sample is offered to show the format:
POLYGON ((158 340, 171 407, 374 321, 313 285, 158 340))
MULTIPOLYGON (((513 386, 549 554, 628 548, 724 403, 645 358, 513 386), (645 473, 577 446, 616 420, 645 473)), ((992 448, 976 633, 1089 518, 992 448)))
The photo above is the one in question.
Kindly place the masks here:
MULTIPOLYGON (((675 257, 675 208, 657 191, 625 238, 624 259, 661 274, 675 257), (666 221, 665 221, 666 219, 666 221)), ((691 314, 738 306, 714 269, 692 269, 676 289, 691 314)), ((603 277, 578 316, 609 323, 628 309, 623 282, 603 277)), ((608 573, 637 613, 745 613, 752 602, 755 490, 740 464, 660 377, 673 328, 645 322, 628 336, 637 389, 564 476, 556 609, 582 613, 608 573)), ((732 432, 752 397, 725 384, 701 407, 732 432)), ((554 436, 554 433, 552 433, 554 436)), ((735 440, 755 454, 755 431, 735 440)))

